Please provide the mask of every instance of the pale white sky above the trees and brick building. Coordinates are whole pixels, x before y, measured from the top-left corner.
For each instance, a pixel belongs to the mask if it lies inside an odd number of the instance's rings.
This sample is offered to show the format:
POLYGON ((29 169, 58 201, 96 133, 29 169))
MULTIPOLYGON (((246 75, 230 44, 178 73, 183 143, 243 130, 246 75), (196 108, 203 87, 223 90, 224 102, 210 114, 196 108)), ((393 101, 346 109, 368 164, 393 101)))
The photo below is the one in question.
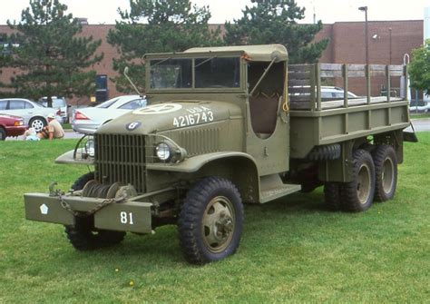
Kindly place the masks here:
MULTIPOLYGON (((91 25, 114 24, 119 19, 118 7, 128 9, 129 0, 60 0, 69 7, 74 17, 86 17, 91 25)), ((196 5, 209 5, 211 24, 223 24, 225 21, 239 19, 245 5, 250 0, 191 0, 196 5)), ((315 13, 317 20, 324 24, 344 21, 363 21, 364 13, 359 6, 367 6, 367 17, 372 20, 423 20, 425 6, 430 7, 430 0, 297 0, 299 6, 306 8, 302 23, 312 23, 315 13)), ((21 11, 29 0, 0 0, 0 25, 7 20, 19 22, 21 11)))

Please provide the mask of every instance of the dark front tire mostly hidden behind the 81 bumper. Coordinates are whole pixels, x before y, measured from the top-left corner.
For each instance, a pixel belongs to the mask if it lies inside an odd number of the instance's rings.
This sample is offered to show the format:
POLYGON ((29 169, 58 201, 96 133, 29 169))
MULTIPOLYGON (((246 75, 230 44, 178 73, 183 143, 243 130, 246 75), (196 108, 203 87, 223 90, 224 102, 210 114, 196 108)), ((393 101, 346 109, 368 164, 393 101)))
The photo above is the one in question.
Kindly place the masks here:
MULTIPOLYGON (((94 173, 89 172, 74 181, 72 190, 82 190, 83 186, 94 179, 94 173)), ((76 250, 95 250, 111 247, 122 242, 123 231, 97 230, 94 228, 94 217, 76 217, 74 226, 64 226, 67 239, 76 250)))

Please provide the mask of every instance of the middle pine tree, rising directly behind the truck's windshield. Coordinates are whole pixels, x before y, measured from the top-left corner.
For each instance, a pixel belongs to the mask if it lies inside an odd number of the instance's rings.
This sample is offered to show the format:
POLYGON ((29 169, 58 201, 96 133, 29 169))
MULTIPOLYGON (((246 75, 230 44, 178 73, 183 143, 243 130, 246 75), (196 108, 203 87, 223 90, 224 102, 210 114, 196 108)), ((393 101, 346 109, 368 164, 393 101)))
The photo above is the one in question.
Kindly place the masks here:
POLYGON ((130 0, 130 12, 119 10, 122 21, 108 34, 108 42, 116 46, 119 59, 113 69, 120 73, 112 80, 120 92, 130 92, 122 77, 125 66, 138 88, 144 91, 143 54, 181 52, 193 46, 221 43, 220 29, 210 30, 208 6, 198 7, 189 0, 130 0))

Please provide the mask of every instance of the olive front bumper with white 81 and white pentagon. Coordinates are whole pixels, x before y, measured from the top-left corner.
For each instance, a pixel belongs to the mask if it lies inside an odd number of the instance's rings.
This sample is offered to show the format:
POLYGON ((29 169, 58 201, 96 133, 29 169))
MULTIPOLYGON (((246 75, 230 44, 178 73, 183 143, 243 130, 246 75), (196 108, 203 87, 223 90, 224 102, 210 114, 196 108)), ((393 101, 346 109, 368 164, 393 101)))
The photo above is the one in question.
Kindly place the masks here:
MULTIPOLYGON (((44 193, 25 193, 25 218, 30 221, 73 226, 75 216, 72 211, 63 207, 62 200, 80 214, 96 209, 105 201, 81 196, 60 197, 44 193)), ((101 230, 151 233, 151 206, 152 203, 142 201, 112 202, 93 213, 94 227, 101 230)))

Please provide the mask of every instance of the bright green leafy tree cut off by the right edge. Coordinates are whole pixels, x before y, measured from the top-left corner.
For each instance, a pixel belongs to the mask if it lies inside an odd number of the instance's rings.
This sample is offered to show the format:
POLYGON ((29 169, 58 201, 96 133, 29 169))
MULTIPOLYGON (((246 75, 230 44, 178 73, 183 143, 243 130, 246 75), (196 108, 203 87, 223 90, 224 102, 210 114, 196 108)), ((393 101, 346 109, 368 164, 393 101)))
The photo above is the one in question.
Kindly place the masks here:
POLYGON ((412 51, 411 63, 407 66, 411 87, 430 94, 430 39, 412 51))

